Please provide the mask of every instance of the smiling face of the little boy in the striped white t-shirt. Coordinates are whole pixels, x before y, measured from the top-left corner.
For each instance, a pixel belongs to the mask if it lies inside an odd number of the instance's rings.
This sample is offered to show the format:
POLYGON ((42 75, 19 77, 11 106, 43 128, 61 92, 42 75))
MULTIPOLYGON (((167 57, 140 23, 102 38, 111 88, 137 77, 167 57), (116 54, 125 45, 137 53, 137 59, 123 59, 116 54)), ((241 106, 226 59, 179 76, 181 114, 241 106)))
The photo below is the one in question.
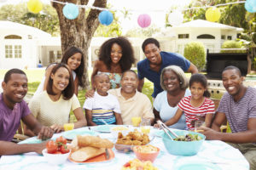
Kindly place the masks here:
POLYGON ((94 88, 100 95, 107 95, 110 88, 109 77, 106 74, 96 75, 94 80, 94 88))

